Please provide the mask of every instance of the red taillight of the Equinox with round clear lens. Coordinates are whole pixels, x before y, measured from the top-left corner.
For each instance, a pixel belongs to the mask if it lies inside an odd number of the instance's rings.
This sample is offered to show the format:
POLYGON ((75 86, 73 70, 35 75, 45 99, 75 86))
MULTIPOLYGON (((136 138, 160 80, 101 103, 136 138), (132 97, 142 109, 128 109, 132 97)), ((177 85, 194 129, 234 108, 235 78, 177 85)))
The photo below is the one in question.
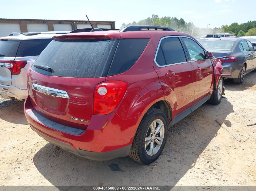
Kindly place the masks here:
POLYGON ((128 84, 124 81, 105 81, 98 84, 94 91, 93 114, 111 113, 118 106, 128 84))

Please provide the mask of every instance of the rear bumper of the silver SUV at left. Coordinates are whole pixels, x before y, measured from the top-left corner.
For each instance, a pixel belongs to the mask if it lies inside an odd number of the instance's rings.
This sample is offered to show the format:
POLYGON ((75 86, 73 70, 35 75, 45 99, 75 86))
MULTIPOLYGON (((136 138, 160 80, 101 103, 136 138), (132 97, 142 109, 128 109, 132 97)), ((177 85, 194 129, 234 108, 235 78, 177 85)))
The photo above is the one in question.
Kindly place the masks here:
POLYGON ((12 100, 24 100, 28 95, 28 90, 22 90, 15 86, 0 84, 0 97, 12 100))

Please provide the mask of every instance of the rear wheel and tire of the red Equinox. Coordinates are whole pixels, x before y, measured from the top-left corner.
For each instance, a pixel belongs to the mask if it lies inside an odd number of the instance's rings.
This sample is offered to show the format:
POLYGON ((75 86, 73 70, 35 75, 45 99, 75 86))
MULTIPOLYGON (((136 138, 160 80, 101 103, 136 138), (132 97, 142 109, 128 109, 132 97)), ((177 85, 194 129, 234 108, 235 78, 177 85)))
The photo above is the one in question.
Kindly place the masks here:
POLYGON ((158 159, 165 147, 167 124, 161 110, 149 109, 137 129, 129 156, 142 164, 150 164, 158 159))

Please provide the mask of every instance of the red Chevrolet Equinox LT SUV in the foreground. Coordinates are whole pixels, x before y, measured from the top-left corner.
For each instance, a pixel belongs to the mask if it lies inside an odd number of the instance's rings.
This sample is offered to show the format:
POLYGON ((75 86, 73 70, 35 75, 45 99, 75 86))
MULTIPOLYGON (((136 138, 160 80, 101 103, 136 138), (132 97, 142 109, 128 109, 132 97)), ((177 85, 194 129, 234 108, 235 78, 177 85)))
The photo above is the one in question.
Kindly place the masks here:
POLYGON ((25 115, 45 140, 79 156, 150 164, 168 127, 221 102, 221 61, 168 27, 53 37, 28 71, 25 115))

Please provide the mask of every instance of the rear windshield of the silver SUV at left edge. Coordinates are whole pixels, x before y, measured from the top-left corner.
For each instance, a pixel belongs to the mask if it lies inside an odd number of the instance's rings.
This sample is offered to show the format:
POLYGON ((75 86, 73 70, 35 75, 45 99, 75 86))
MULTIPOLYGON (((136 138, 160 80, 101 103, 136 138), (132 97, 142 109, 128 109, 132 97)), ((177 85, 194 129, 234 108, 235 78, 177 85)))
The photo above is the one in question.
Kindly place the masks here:
POLYGON ((21 40, 0 40, 1 57, 15 57, 21 40))

